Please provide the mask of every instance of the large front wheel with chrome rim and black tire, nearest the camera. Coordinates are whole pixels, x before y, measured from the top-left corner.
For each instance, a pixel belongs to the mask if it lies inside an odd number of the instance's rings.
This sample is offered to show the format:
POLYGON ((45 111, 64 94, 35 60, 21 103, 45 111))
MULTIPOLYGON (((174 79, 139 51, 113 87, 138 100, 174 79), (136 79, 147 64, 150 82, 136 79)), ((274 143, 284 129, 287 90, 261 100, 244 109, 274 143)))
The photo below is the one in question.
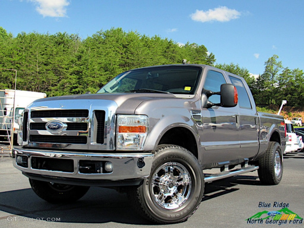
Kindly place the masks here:
POLYGON ((156 223, 178 223, 198 208, 204 175, 196 157, 183 147, 160 145, 150 176, 129 192, 139 214, 156 223))

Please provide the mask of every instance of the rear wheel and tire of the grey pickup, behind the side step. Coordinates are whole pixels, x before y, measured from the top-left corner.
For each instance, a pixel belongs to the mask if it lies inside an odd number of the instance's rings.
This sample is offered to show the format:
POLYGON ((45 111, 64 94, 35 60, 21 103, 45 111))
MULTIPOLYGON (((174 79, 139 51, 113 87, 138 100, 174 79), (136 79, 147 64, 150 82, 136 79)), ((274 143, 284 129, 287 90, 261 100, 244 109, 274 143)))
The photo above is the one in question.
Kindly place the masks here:
POLYGON ((257 170, 260 181, 264 185, 278 185, 283 176, 283 153, 277 142, 270 142, 268 148, 259 160, 257 170))

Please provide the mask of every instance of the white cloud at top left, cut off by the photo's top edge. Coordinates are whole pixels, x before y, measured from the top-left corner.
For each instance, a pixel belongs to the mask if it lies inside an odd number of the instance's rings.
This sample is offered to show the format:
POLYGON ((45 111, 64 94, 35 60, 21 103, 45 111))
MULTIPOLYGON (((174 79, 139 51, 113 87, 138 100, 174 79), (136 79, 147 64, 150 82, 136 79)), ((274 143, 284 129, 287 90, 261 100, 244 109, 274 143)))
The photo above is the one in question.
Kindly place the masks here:
POLYGON ((66 6, 70 4, 68 0, 30 0, 34 2, 36 11, 43 17, 64 17, 66 16, 66 6))

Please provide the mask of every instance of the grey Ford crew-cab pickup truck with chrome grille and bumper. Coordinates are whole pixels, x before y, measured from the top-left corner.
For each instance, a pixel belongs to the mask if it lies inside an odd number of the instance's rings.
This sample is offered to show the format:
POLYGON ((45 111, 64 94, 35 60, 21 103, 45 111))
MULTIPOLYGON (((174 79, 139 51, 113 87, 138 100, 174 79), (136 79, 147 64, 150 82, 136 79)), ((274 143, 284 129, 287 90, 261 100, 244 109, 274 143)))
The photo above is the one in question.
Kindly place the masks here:
POLYGON ((36 100, 19 122, 14 166, 50 203, 116 188, 147 219, 178 223, 206 182, 282 179, 283 117, 257 112, 243 78, 207 65, 126 71, 96 94, 36 100))

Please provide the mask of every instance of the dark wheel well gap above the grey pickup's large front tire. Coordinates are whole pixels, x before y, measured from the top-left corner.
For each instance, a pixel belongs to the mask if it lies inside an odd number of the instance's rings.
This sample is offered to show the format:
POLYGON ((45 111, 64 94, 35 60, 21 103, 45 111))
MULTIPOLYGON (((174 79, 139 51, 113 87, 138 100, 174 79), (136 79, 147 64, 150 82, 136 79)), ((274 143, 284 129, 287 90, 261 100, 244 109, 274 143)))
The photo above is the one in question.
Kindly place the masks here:
POLYGON ((160 144, 173 144, 184 147, 198 158, 197 143, 192 132, 184 127, 174 127, 168 130, 159 141, 160 144))

